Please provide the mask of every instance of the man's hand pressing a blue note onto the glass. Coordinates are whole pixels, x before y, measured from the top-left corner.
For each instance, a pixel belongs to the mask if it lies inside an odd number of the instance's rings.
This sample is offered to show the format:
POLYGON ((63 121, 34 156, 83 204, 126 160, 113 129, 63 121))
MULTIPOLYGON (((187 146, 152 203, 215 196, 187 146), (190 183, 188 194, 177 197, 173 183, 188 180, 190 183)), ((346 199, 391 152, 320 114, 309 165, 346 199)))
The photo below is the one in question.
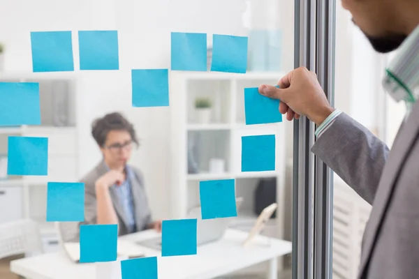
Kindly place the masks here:
POLYGON ((297 68, 278 82, 279 89, 271 85, 259 86, 259 93, 269 98, 279 99, 279 112, 286 114, 288 121, 307 116, 317 125, 335 110, 330 106, 316 74, 307 68, 297 68))

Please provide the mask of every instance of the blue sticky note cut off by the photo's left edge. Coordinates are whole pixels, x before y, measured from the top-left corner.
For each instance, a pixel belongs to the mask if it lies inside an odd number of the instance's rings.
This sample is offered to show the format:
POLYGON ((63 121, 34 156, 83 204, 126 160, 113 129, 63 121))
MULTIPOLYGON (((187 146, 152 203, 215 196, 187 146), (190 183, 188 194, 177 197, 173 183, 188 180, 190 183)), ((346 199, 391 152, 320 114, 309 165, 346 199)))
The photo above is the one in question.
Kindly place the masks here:
POLYGON ((0 126, 41 125, 39 84, 0 82, 0 126))

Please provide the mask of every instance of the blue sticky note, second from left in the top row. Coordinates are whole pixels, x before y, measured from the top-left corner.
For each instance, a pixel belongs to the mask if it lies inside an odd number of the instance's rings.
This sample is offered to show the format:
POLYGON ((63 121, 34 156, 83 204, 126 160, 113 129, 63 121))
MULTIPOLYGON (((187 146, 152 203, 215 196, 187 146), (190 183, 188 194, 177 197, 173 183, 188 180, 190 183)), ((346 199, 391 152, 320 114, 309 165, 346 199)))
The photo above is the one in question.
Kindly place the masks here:
POLYGON ((80 70, 119 70, 118 31, 79 31, 80 70))

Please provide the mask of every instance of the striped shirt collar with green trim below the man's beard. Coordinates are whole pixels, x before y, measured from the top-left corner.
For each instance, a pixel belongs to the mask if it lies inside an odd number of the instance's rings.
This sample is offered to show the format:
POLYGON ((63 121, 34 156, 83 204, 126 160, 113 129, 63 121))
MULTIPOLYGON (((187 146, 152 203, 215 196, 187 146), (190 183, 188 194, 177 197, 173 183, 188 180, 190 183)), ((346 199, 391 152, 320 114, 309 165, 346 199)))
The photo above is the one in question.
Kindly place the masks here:
POLYGON ((419 98, 419 26, 404 40, 399 52, 385 69, 383 86, 396 101, 404 100, 410 110, 419 98))

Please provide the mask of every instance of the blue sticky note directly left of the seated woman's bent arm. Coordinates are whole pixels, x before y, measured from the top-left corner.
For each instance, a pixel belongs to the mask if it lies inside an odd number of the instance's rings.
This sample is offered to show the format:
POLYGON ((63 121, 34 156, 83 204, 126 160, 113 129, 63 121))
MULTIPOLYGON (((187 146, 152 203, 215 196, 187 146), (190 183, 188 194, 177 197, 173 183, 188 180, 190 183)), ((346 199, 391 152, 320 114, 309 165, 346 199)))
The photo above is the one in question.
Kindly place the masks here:
POLYGON ((84 221, 84 183, 48 182, 47 222, 84 221))

